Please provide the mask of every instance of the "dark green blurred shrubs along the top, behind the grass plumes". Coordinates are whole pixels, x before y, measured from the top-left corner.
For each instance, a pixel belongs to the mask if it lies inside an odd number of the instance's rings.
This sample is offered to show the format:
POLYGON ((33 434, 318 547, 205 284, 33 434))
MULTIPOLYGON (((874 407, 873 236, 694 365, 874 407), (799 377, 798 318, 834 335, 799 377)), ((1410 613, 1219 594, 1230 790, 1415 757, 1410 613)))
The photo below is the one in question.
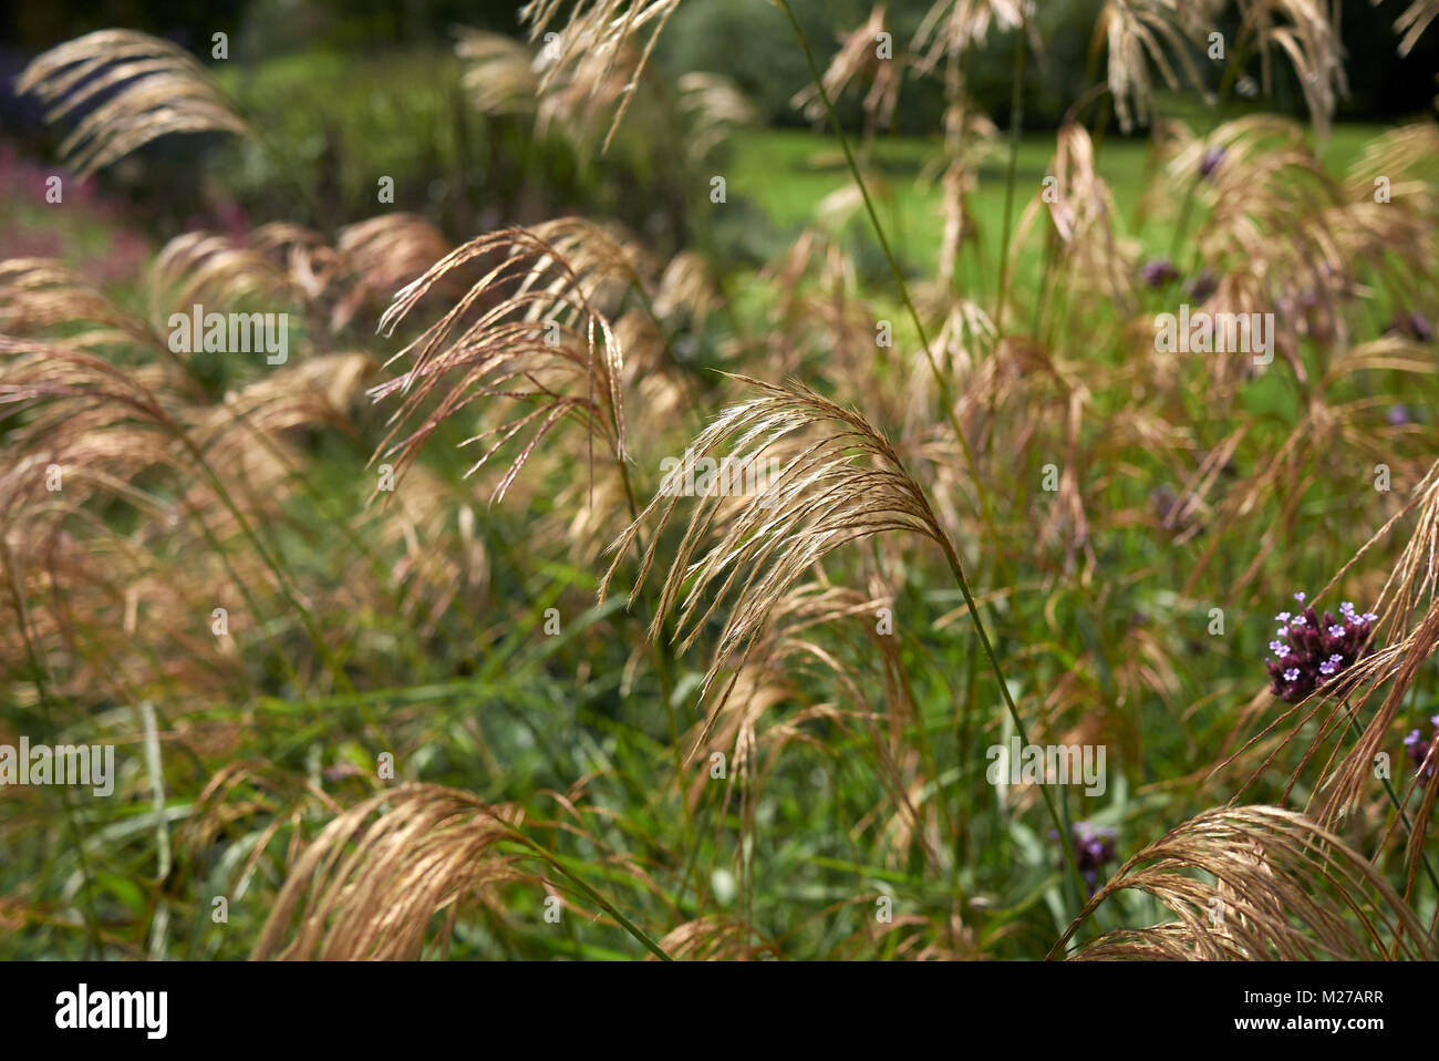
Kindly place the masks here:
MULTIPOLYGON (((1091 37, 1099 6, 1039 4, 1043 55, 1026 71, 1026 130, 1055 128, 1098 76, 1091 37)), ((393 209, 422 213, 452 238, 581 212, 612 216, 666 249, 685 245, 686 194, 675 187, 666 141, 622 137, 603 160, 602 180, 594 155, 576 150, 563 131, 537 138, 528 117, 484 115, 466 102, 455 29, 518 37, 518 7, 458 0, 219 0, 203 10, 174 1, 12 4, 0 13, 0 128, 22 154, 53 158, 63 128, 45 127, 33 101, 16 99, 14 75, 63 39, 124 26, 174 40, 210 65, 285 160, 278 173, 253 145, 217 135, 165 137, 101 174, 104 190, 128 202, 155 238, 197 220, 213 226, 256 216, 332 226, 374 213, 377 181, 387 176, 394 180, 393 209), (217 32, 229 37, 229 63, 210 56, 217 32)), ((833 27, 862 24, 871 7, 869 0, 796 0, 820 68, 837 49, 833 27)), ((927 7, 928 0, 888 4, 896 49, 912 40, 927 7)), ((1439 35, 1397 58, 1387 7, 1343 4, 1351 92, 1340 102, 1340 119, 1413 117, 1439 88, 1439 35)), ((1000 35, 970 56, 966 71, 980 109, 1002 128, 1010 109, 1009 53, 1000 35)), ((656 83, 689 71, 725 75, 764 125, 806 125, 790 102, 807 82, 804 59, 783 13, 766 0, 686 0, 661 36, 656 69, 656 83)), ((853 128, 862 124, 861 95, 837 101, 853 128)), ((1276 65, 1272 98, 1252 105, 1302 117, 1292 71, 1276 65)), ((891 132, 935 135, 943 108, 938 78, 907 78, 891 132)))

